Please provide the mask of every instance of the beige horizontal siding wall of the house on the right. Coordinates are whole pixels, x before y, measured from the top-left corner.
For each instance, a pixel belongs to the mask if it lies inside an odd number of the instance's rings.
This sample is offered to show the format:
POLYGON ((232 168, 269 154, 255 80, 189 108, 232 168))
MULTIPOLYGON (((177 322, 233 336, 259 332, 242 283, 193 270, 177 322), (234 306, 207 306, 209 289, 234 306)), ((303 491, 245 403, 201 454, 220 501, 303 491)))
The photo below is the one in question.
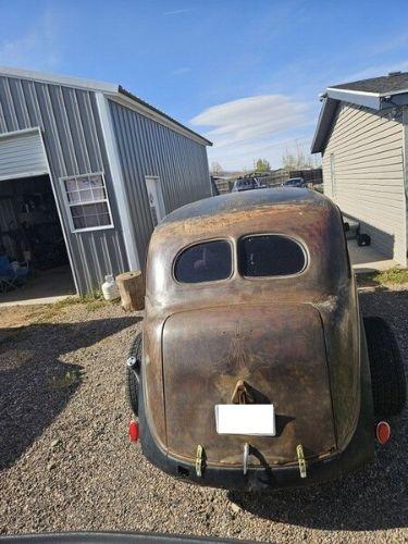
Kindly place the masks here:
POLYGON ((341 103, 322 154, 324 193, 360 221, 373 247, 406 264, 404 125, 388 113, 341 103))

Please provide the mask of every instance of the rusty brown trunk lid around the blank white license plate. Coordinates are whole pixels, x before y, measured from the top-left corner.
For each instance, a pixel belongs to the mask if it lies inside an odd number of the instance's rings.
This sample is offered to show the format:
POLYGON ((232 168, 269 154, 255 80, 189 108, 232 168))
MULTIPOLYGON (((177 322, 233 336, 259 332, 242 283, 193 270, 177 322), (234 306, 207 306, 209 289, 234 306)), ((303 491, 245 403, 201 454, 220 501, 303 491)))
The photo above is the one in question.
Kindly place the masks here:
POLYGON ((225 306, 182 311, 163 329, 163 380, 168 448, 194 459, 197 446, 208 463, 297 460, 335 448, 332 400, 322 323, 311 305, 225 306), (218 434, 214 407, 239 400, 273 404, 275 436, 218 434), (235 393, 235 397, 234 397, 235 393), (233 399, 234 397, 234 399, 233 399), (258 458, 258 460, 256 460, 258 458))

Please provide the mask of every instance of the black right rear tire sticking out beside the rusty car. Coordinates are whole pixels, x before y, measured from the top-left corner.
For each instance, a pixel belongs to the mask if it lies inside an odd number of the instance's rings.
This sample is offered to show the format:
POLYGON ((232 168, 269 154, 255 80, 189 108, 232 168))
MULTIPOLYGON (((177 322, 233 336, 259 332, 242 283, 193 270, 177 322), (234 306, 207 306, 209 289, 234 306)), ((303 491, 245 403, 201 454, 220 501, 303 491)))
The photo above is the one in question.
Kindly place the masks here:
POLYGON ((399 347, 390 325, 381 318, 364 318, 374 415, 397 416, 404 409, 407 385, 399 347))

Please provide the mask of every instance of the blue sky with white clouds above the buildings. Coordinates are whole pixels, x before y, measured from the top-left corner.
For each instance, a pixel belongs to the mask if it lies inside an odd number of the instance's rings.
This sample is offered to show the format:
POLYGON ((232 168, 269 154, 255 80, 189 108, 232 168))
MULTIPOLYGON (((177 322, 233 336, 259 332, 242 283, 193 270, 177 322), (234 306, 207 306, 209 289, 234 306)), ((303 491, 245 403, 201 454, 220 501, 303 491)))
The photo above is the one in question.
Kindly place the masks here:
POLYGON ((327 85, 408 70, 408 1, 0 0, 0 65, 120 83, 213 143, 306 152, 327 85))

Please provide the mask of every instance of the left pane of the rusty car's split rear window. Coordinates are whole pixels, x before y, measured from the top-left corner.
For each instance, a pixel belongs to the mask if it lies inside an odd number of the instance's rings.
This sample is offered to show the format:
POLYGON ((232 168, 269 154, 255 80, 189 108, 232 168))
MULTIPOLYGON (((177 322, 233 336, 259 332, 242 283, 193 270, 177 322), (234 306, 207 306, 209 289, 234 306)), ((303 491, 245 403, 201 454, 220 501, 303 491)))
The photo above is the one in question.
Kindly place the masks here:
POLYGON ((174 276, 181 283, 217 282, 232 274, 231 244, 205 242, 190 246, 177 257, 174 276))

